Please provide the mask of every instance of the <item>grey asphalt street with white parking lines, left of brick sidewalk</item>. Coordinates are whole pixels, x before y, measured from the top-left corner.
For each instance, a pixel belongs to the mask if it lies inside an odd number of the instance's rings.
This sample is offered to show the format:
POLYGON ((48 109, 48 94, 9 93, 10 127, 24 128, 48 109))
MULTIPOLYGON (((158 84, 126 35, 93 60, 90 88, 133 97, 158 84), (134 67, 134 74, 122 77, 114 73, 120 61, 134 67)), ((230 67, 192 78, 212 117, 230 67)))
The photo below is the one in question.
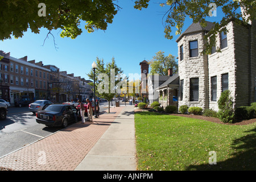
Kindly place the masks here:
MULTIPOLYGON (((100 110, 107 106, 108 102, 102 102, 100 110)), ((28 111, 28 107, 9 107, 8 110, 7 118, 0 121, 0 158, 62 129, 37 123, 36 115, 28 111)))

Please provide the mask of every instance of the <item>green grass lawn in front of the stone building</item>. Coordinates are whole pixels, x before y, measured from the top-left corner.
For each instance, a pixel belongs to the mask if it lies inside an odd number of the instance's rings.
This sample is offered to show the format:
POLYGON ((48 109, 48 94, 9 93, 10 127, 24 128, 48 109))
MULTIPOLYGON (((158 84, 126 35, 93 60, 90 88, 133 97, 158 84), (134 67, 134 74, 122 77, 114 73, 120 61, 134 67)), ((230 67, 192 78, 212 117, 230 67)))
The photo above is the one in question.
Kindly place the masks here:
POLYGON ((256 170, 256 123, 221 125, 135 113, 139 170, 256 170), (209 164, 216 151, 217 164, 209 164))

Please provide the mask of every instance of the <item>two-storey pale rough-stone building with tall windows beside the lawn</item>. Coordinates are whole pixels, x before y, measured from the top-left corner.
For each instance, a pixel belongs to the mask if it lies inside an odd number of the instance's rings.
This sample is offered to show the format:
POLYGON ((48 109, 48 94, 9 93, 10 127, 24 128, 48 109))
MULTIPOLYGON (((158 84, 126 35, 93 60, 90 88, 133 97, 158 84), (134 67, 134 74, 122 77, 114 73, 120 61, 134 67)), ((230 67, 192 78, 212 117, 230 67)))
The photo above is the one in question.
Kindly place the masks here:
POLYGON ((256 28, 230 20, 228 32, 217 35, 211 55, 202 55, 204 35, 213 23, 203 28, 193 23, 176 40, 179 53, 179 106, 199 106, 218 110, 221 92, 228 89, 234 107, 256 100, 256 28), (221 52, 214 52, 218 47, 221 52))

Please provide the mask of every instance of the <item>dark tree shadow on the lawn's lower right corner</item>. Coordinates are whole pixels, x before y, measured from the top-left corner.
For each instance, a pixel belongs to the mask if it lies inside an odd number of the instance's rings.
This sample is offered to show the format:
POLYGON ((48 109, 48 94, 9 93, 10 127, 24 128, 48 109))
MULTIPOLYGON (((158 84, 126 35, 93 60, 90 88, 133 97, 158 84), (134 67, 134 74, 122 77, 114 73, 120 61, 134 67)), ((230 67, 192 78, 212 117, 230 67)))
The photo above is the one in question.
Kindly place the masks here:
POLYGON ((256 127, 252 130, 245 131, 245 133, 250 133, 244 137, 233 140, 232 148, 238 151, 232 154, 232 156, 225 161, 218 162, 217 154, 217 164, 201 164, 201 165, 191 165, 186 168, 186 170, 226 170, 226 171, 240 171, 246 170, 250 171, 256 170, 256 127), (253 132, 253 133, 251 133, 253 132))

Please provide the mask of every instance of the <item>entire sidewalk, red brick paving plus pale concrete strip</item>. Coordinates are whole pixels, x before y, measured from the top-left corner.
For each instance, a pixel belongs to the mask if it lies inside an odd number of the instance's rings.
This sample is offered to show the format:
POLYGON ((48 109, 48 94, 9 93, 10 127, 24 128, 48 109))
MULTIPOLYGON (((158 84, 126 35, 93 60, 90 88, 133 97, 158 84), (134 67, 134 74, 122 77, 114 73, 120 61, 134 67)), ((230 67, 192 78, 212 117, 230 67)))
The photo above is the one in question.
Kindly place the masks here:
POLYGON ((134 107, 111 107, 0 159, 13 170, 136 170, 134 107))

